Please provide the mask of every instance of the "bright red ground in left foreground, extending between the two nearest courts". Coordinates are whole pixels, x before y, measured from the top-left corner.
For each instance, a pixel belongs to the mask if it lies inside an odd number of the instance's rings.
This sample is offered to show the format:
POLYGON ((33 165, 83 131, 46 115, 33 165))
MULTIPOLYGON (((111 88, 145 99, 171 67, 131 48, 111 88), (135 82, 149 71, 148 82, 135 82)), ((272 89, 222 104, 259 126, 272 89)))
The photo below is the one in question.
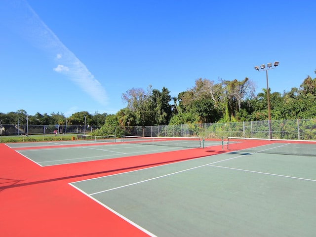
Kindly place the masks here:
MULTIPOLYGON (((236 145, 235 150, 241 146, 249 144, 236 145)), ((221 147, 190 149, 40 167, 0 144, 0 234, 3 237, 147 236, 69 183, 220 153, 221 147)))

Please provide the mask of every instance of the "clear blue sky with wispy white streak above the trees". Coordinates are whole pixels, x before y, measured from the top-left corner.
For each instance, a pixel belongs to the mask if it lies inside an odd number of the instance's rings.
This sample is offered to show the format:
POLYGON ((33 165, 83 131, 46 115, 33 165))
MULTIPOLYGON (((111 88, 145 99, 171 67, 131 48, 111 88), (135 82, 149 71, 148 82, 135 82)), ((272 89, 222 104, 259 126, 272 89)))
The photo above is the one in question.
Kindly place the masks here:
POLYGON ((198 78, 272 92, 315 78, 315 0, 0 0, 1 109, 115 114, 122 93, 198 78))

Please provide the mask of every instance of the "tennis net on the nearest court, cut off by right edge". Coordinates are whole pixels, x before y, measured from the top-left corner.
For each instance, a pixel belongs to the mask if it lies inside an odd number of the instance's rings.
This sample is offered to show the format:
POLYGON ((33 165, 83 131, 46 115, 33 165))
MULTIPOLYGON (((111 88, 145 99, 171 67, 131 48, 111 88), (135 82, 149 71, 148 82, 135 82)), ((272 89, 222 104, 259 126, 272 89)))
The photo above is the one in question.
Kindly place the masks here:
POLYGON ((296 156, 316 156, 316 141, 255 138, 223 138, 223 149, 249 153, 270 153, 296 156))

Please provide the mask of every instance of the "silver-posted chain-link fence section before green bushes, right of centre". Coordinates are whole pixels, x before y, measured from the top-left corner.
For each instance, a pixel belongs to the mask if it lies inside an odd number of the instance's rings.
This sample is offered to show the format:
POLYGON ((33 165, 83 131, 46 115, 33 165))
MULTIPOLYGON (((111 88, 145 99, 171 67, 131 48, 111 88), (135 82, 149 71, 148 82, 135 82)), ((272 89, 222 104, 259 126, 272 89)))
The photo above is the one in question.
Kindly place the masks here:
MULTIPOLYGON (((316 119, 272 120, 271 129, 273 139, 316 140, 316 119)), ((268 120, 137 126, 125 130, 129 135, 148 137, 269 138, 268 120)))

